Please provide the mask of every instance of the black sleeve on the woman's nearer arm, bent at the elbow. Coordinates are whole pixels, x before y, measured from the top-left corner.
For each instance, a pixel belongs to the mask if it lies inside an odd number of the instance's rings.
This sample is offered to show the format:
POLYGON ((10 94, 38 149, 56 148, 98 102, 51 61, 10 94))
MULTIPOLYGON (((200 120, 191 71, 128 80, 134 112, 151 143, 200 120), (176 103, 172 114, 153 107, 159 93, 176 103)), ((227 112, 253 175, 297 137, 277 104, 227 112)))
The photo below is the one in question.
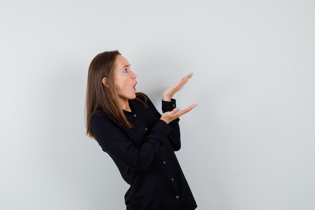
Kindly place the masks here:
POLYGON ((171 131, 166 122, 159 120, 146 136, 146 141, 142 145, 136 146, 132 139, 129 139, 128 131, 130 132, 130 129, 118 125, 105 113, 92 115, 91 128, 104 152, 138 172, 146 171, 156 151, 164 144, 165 136, 171 131))

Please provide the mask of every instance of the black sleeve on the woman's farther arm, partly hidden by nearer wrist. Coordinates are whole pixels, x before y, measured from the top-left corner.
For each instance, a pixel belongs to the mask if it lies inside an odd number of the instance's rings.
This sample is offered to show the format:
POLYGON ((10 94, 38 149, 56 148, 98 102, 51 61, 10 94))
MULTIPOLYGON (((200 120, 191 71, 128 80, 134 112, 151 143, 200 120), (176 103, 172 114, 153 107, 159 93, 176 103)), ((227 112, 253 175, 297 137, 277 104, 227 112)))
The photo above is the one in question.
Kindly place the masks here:
MULTIPOLYGON (((163 113, 172 111, 176 108, 176 100, 172 99, 171 101, 163 101, 162 100, 162 111, 163 113)), ((173 146, 174 151, 179 151, 181 149, 181 133, 179 127, 179 118, 173 120, 169 123, 171 127, 171 131, 168 133, 170 143, 173 146)))

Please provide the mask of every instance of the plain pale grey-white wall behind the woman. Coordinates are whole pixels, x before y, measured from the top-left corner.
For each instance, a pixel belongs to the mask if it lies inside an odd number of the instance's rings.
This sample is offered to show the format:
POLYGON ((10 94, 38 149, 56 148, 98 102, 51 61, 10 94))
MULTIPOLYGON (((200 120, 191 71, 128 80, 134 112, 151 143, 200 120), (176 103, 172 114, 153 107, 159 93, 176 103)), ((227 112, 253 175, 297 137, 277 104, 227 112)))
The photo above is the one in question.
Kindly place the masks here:
POLYGON ((88 66, 120 50, 137 90, 175 98, 177 157, 197 209, 315 208, 315 2, 0 3, 0 209, 125 209, 128 189, 85 135, 88 66))

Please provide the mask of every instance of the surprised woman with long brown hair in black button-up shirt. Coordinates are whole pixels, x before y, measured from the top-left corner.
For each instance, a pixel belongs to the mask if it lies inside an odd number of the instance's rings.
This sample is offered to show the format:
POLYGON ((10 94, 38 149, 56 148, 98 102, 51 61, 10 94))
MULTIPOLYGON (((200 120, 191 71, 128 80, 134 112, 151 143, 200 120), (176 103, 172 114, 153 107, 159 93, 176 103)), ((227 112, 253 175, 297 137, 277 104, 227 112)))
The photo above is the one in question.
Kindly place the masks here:
POLYGON ((163 93, 161 115, 143 93, 119 51, 98 54, 91 62, 86 98, 87 134, 114 160, 130 185, 127 210, 193 210, 197 207, 174 151, 181 148, 173 95, 193 74, 163 93))

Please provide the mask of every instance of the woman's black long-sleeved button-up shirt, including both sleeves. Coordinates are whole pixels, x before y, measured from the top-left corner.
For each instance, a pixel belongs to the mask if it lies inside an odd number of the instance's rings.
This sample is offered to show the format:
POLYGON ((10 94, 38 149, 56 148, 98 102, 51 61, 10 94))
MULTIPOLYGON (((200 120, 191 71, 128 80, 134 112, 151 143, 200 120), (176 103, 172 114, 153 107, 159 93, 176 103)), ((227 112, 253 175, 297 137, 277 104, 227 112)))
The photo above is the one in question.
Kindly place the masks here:
MULTIPOLYGON (((129 100, 131 112, 124 114, 128 129, 105 112, 91 117, 92 131, 130 184, 125 194, 127 210, 193 210, 197 207, 174 151, 181 148, 179 118, 169 124, 147 99, 147 107, 129 100)), ((176 101, 162 102, 171 111, 176 101)))

